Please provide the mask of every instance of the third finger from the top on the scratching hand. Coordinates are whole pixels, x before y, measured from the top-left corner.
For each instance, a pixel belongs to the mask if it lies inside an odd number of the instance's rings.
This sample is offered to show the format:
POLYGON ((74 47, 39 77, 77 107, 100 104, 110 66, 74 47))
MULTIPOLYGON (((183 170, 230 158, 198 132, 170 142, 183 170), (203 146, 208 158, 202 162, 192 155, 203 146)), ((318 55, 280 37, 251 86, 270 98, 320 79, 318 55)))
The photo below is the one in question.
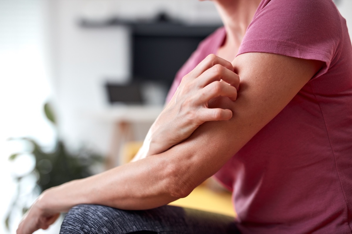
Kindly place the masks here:
POLYGON ((198 103, 207 103, 210 99, 222 96, 228 97, 232 101, 237 99, 237 90, 235 87, 228 85, 228 83, 214 81, 206 87, 200 89, 201 95, 197 99, 198 103))

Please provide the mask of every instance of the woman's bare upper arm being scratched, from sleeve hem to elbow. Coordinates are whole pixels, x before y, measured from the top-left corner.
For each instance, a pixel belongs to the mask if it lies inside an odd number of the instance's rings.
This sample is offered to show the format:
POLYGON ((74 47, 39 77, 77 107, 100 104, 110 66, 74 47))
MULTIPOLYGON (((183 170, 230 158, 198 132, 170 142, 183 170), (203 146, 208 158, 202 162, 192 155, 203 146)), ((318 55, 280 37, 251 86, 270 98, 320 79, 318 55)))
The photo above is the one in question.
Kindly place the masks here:
POLYGON ((240 77, 238 99, 217 98, 209 103, 231 109, 232 119, 206 122, 186 141, 163 153, 175 171, 175 196, 187 196, 216 173, 323 66, 321 61, 270 53, 241 54, 232 64, 240 77))

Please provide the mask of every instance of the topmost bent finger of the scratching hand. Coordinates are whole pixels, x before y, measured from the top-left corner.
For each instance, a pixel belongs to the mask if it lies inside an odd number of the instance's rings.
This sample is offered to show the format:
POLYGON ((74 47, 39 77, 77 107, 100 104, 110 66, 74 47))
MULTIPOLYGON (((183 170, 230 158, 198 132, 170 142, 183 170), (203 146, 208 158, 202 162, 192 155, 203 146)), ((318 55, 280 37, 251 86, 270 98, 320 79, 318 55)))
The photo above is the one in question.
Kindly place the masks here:
POLYGON ((222 59, 214 54, 209 54, 190 73, 188 73, 187 76, 195 79, 200 76, 203 72, 207 71, 210 67, 213 67, 216 64, 219 64, 229 69, 230 71, 233 71, 233 66, 231 62, 222 59))

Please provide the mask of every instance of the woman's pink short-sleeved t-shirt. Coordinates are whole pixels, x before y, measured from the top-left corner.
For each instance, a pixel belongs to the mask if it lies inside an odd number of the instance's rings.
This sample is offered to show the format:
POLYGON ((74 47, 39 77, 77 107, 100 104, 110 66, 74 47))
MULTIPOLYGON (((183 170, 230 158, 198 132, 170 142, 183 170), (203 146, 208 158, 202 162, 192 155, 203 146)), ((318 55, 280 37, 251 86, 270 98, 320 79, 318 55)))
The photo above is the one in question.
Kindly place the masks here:
MULTIPOLYGON (((220 28, 199 45, 168 100, 225 36, 220 28)), ((352 233, 352 47, 345 19, 331 0, 262 0, 238 54, 247 52, 326 66, 215 174, 233 191, 239 229, 352 233)))

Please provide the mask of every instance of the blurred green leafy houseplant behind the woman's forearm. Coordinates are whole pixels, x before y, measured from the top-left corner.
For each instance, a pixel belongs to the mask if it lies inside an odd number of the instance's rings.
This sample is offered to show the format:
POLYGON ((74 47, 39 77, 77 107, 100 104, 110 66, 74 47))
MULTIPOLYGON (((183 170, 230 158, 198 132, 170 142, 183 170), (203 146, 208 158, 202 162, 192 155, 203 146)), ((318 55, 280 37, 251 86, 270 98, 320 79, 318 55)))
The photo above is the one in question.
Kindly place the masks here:
MULTIPOLYGON (((57 123, 54 113, 49 103, 44 105, 45 116, 56 127, 57 123)), ((62 183, 82 179, 93 174, 92 166, 96 163, 102 163, 103 157, 93 151, 82 147, 77 152, 70 152, 64 141, 59 137, 56 140, 55 147, 52 151, 46 152, 39 143, 31 138, 11 138, 11 141, 24 141, 31 145, 29 152, 18 152, 10 156, 9 160, 20 160, 20 155, 32 155, 35 166, 34 168, 22 175, 14 175, 17 183, 17 192, 10 205, 10 210, 6 215, 5 226, 9 229, 9 222, 15 209, 20 208, 24 214, 33 202, 33 197, 37 197, 45 189, 61 185, 62 183), (26 178, 36 178, 36 185, 32 186, 30 193, 21 198, 23 182, 26 178)))

